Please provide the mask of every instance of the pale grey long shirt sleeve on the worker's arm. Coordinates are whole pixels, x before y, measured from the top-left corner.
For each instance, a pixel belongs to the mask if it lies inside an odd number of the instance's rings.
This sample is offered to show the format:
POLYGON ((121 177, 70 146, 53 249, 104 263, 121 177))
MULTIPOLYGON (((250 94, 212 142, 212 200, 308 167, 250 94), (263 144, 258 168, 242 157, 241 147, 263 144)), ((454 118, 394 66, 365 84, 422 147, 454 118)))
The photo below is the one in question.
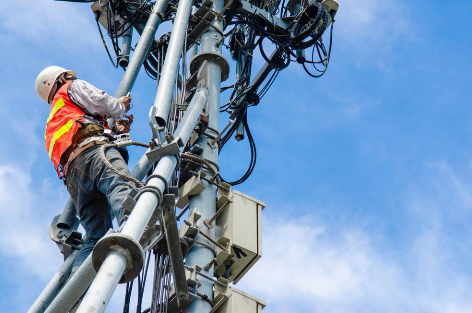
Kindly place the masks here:
POLYGON ((117 98, 82 79, 76 79, 70 84, 69 96, 90 114, 103 118, 122 118, 129 109, 129 103, 125 106, 117 98))

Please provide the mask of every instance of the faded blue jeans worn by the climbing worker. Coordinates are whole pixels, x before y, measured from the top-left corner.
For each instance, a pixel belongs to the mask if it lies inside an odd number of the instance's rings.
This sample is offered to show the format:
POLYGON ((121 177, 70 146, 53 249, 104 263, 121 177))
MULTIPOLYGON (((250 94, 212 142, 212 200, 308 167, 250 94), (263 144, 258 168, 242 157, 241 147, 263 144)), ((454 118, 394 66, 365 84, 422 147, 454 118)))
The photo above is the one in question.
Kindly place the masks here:
MULTIPOLYGON (((135 185, 119 177, 103 163, 99 145, 90 147, 69 165, 66 175, 67 190, 77 209, 80 223, 87 234, 87 241, 77 255, 71 276, 77 271, 95 244, 113 228, 112 219, 118 225, 123 220, 122 203, 135 185)), ((105 150, 108 161, 121 173, 129 175, 128 166, 116 148, 105 150)))

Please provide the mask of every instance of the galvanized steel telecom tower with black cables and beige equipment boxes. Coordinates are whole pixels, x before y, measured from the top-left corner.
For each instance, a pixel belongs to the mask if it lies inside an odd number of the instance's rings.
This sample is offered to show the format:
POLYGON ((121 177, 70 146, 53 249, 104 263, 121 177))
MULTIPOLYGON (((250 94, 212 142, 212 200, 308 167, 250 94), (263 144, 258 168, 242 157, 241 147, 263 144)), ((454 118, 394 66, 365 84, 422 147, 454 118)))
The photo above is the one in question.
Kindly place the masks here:
MULTIPOLYGON (((142 66, 158 87, 149 110, 148 150, 131 172, 140 191, 123 202, 125 222, 110 229, 69 277, 83 243, 69 199, 49 229, 64 263, 29 312, 69 312, 78 301, 78 313, 104 312, 117 284, 126 283, 123 312, 129 311, 134 284, 142 313, 259 313, 265 303, 234 286, 262 256, 265 204, 233 189, 256 163, 248 109, 292 61, 312 77, 324 74, 337 0, 69 1, 91 2, 106 52, 125 70, 117 97, 131 91, 142 66), (159 25, 170 21, 172 32, 156 39, 159 25), (329 29, 326 48, 323 34, 329 29), (230 63, 223 48, 236 62, 236 77, 224 87, 230 63), (256 53, 265 64, 251 79, 256 53), (222 104, 225 91, 231 94, 222 104), (220 112, 229 114, 223 127, 220 112), (240 179, 227 182, 218 154, 233 135, 247 138, 251 161, 240 179), (183 221, 180 228, 177 221, 183 221), (151 306, 141 308, 151 279, 151 306)), ((132 144, 124 134, 111 145, 132 144)))

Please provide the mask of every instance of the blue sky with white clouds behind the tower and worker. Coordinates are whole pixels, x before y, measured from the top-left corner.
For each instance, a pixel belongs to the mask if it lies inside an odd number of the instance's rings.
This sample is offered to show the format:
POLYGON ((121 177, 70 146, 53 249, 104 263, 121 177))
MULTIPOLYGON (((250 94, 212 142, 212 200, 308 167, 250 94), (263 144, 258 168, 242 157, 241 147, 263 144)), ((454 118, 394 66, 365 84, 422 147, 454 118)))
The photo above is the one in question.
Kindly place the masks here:
MULTIPOLYGON (((47 230, 68 196, 34 79, 57 64, 114 94, 122 71, 87 4, 2 7, 0 307, 25 312, 61 263, 47 230)), ((236 287, 265 313, 472 312, 470 12, 467 0, 340 0, 325 76, 292 64, 250 110, 257 166, 236 189, 266 202, 264 247, 236 287)), ((134 140, 148 141, 154 92, 140 75, 134 140)), ((228 179, 246 148, 225 147, 228 179)), ((122 290, 107 312, 120 311, 122 290)))

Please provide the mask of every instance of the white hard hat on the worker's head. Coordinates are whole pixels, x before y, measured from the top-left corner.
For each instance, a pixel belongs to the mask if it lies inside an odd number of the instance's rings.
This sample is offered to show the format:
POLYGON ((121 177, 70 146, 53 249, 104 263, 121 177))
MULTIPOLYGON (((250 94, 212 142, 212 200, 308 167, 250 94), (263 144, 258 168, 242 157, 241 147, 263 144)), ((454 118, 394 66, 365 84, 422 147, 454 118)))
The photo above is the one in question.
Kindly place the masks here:
POLYGON ((36 94, 46 101, 47 103, 51 104, 52 102, 52 95, 53 92, 57 91, 57 81, 60 76, 71 75, 76 76, 74 71, 65 69, 60 66, 48 66, 39 73, 38 77, 36 77, 36 82, 34 87, 36 89, 36 94))

